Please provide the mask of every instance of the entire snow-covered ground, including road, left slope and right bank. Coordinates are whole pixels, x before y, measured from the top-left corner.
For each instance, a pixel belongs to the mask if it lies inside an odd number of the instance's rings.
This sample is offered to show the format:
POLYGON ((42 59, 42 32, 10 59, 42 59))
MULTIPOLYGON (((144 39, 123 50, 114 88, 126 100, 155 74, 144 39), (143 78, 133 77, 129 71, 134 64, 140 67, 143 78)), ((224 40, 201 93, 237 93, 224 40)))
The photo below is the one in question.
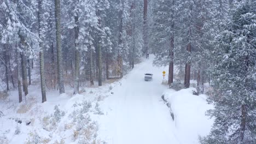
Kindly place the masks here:
POLYGON ((29 87, 26 103, 11 91, 0 100, 0 143, 199 143, 213 123, 205 116, 212 108, 206 95, 161 85, 162 71, 168 69, 153 67, 153 59, 143 59, 119 81, 86 87, 77 95, 72 89, 62 95, 47 92, 43 104, 39 86, 29 87), (145 73, 152 73, 153 80, 144 81, 145 73), (162 94, 171 103, 174 121, 162 94))

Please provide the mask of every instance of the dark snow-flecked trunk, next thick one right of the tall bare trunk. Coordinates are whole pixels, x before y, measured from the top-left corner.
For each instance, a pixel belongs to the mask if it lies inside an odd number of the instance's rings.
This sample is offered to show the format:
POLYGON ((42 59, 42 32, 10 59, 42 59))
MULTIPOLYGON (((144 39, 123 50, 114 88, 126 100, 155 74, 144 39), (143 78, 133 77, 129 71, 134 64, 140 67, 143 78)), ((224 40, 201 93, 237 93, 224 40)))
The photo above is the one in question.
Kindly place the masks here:
POLYGON ((80 70, 80 52, 78 47, 78 34, 79 34, 79 23, 78 23, 78 14, 74 17, 75 27, 75 70, 74 70, 74 94, 79 92, 79 70, 80 70))

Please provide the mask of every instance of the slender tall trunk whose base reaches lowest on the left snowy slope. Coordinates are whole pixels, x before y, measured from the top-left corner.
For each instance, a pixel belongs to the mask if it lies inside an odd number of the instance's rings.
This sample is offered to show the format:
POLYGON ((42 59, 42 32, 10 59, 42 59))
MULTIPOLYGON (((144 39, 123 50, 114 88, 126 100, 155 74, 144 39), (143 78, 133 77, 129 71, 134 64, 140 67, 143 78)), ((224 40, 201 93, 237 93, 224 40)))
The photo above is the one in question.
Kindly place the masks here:
POLYGON ((44 73, 44 49, 43 49, 43 29, 42 29, 42 0, 38 1, 38 37, 39 40, 39 61, 40 61, 40 82, 41 82, 41 93, 42 93, 42 103, 46 101, 45 93, 45 73, 44 73))

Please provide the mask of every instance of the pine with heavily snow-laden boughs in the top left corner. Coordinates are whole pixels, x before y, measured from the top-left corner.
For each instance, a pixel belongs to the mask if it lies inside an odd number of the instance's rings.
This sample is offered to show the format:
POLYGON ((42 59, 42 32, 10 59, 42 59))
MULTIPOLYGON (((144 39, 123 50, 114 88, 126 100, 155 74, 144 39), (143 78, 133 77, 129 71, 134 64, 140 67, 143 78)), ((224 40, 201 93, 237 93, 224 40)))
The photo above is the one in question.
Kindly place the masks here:
MULTIPOLYGON (((31 43, 37 43, 38 37, 31 31, 31 25, 36 21, 33 9, 35 1, 3 1, 1 8, 4 11, 2 20, 3 31, 1 32, 1 43, 8 44, 9 48, 16 47, 21 54, 22 67, 22 84, 25 95, 28 94, 27 89, 27 57, 34 57, 34 50, 31 43)), ((16 51, 16 50, 14 50, 16 51)), ((20 55, 17 55, 20 56, 20 55)))

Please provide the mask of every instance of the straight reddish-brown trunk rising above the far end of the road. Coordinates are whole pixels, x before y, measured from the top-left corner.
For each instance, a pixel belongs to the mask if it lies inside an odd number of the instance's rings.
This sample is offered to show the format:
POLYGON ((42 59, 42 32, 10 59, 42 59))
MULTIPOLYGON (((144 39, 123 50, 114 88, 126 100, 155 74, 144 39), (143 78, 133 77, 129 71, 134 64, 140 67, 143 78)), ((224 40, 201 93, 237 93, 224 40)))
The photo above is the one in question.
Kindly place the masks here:
POLYGON ((148 58, 148 0, 144 0, 144 9, 143 9, 143 41, 144 41, 144 51, 146 58, 148 58))

